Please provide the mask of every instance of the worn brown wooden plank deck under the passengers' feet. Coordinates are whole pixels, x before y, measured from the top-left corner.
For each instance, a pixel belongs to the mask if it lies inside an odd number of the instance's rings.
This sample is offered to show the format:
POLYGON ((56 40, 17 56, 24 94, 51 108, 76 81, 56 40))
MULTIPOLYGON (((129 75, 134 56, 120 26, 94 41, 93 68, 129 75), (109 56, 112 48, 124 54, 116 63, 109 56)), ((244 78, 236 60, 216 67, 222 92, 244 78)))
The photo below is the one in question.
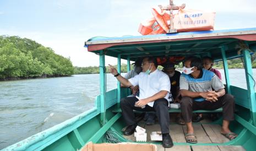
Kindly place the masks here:
MULTIPOLYGON (((206 121, 207 122, 207 121, 206 121)), ((147 142, 149 143, 154 143, 155 141, 151 141, 150 140, 150 133, 152 131, 161 131, 160 129, 160 125, 159 124, 155 124, 155 125, 146 125, 145 122, 143 120, 141 120, 141 122, 139 123, 140 127, 143 127, 144 129, 146 129, 146 133, 147 133, 147 142)), ((196 123, 193 124, 194 127, 194 133, 197 136, 198 139, 198 143, 224 143, 224 142, 228 142, 229 140, 221 135, 220 133, 220 129, 221 126, 217 125, 217 124, 200 124, 200 123, 196 123)), ((176 143, 186 143, 185 137, 184 137, 184 133, 186 133, 187 128, 186 126, 182 126, 182 125, 178 125, 172 122, 172 124, 170 124, 170 135, 172 137, 173 142, 176 143)), ((124 136, 127 140, 131 140, 135 142, 135 137, 134 135, 130 135, 130 136, 124 136)), ((164 148, 162 147, 160 144, 157 145, 157 150, 189 150, 189 151, 196 151, 196 150, 217 150, 217 151, 224 151, 224 150, 244 150, 243 147, 241 146, 173 146, 172 148, 164 148)))

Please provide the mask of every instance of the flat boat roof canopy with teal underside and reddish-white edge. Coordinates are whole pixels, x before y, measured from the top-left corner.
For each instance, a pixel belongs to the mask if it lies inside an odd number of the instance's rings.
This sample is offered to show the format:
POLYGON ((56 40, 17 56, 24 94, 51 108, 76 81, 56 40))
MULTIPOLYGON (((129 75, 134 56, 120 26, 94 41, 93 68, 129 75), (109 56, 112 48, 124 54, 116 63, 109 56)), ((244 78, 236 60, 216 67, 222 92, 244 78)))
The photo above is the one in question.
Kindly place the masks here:
POLYGON ((155 34, 147 36, 125 36, 116 38, 94 37, 85 42, 88 51, 134 61, 145 56, 211 56, 222 60, 221 47, 227 59, 241 57, 238 51, 249 48, 256 51, 256 28, 237 30, 198 31, 155 34))

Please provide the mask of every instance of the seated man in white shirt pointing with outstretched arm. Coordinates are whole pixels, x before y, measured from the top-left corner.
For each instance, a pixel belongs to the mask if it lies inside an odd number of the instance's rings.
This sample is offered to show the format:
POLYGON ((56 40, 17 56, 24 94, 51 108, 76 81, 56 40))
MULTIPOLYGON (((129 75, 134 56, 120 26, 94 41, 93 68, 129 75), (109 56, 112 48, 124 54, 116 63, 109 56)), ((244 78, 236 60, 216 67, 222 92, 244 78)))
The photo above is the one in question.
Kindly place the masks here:
POLYGON ((124 86, 139 85, 139 99, 136 97, 125 97, 121 100, 123 118, 126 121, 127 129, 124 135, 132 135, 137 127, 133 109, 137 111, 156 112, 162 132, 162 146, 172 147, 172 138, 169 135, 169 113, 168 99, 170 98, 170 79, 168 75, 157 69, 157 62, 154 57, 145 57, 141 65, 143 72, 134 78, 127 80, 110 65, 110 72, 124 86))

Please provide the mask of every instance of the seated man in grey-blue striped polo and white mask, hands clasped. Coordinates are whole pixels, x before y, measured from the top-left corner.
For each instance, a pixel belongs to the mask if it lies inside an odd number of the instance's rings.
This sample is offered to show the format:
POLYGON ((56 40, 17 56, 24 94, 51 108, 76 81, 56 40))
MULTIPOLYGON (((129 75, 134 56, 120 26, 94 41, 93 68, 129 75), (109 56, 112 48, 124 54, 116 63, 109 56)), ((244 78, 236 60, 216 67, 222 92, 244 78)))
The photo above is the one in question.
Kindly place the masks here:
POLYGON ((230 121, 234 120, 234 98, 225 94, 224 85, 216 74, 203 69, 201 59, 192 56, 184 61, 179 88, 182 95, 181 111, 187 126, 185 138, 188 143, 197 143, 192 126, 192 113, 199 109, 215 110, 222 107, 221 133, 230 140, 237 137, 228 127, 230 121))

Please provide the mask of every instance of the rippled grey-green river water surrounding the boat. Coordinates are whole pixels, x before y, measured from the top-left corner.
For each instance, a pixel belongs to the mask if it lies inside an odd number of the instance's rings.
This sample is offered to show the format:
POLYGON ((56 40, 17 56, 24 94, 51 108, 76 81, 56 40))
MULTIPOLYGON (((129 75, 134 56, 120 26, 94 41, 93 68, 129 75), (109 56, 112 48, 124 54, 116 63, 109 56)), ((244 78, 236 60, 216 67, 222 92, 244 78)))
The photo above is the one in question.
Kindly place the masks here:
MULTIPOLYGON (((229 72, 231 85, 246 89, 244 69, 229 72)), ((116 88, 107 74, 107 91, 116 88)), ((88 111, 99 94, 99 74, 0 82, 0 149, 88 111)))

